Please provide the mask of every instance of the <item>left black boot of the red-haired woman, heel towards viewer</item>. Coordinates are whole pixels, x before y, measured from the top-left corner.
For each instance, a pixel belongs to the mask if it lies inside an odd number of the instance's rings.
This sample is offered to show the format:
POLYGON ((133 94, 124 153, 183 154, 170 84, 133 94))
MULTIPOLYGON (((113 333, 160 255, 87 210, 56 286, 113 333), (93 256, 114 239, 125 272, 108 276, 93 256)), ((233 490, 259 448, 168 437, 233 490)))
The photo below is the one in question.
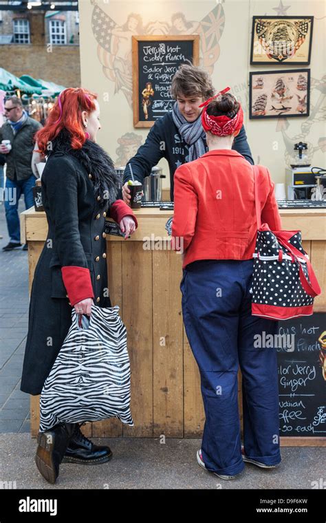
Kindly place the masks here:
POLYGON ((36 450, 36 467, 43 478, 54 484, 59 474, 59 465, 63 460, 69 439, 74 434, 76 423, 58 423, 51 429, 39 432, 36 450))

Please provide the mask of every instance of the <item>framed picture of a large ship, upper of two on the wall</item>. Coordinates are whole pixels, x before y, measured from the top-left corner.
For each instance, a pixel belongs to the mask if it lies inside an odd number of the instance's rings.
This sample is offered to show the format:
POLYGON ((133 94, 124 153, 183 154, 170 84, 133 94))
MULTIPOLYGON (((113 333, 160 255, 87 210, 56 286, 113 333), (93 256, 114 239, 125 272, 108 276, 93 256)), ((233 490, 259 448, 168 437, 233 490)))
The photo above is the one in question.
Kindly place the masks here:
POLYGON ((314 17, 252 17, 251 64, 309 65, 314 17))

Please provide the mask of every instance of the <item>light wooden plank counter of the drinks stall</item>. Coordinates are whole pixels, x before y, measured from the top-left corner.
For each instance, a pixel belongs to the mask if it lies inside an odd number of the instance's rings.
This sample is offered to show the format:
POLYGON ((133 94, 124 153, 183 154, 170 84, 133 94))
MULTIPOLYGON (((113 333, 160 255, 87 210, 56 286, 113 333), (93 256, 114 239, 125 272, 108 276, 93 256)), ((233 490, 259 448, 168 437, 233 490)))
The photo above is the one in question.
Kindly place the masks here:
MULTIPOLYGON (((134 427, 117 419, 89 423, 88 436, 201 437, 204 409, 199 372, 182 323, 181 255, 162 248, 146 250, 144 240, 167 239, 173 211, 135 210, 138 230, 124 240, 107 235, 109 292, 128 332, 131 360, 131 412, 134 427), (158 237, 158 238, 157 238, 158 237)), ((326 210, 281 211, 284 229, 301 230, 323 294, 315 310, 326 311, 326 210)), ((47 235, 45 213, 21 213, 21 242, 28 243, 30 288, 47 235)), ((157 244, 156 244, 157 245, 157 244)), ((166 245, 165 245, 166 247, 166 245)), ((239 389, 240 383, 239 380, 239 389)), ((239 394, 241 396, 241 394, 239 394)), ((39 396, 31 396, 31 432, 39 429, 39 396)), ((281 438, 282 445, 323 445, 319 438, 281 438), (308 441, 309 440, 309 441, 308 441)), ((324 441, 325 443, 325 441, 324 441)))

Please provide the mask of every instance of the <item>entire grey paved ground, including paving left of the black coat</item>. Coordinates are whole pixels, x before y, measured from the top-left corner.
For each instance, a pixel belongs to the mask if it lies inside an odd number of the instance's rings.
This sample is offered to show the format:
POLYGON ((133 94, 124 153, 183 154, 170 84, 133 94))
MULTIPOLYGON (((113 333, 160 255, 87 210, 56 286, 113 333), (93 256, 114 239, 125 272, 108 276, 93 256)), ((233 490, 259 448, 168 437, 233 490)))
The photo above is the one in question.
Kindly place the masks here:
MULTIPOLYGON (((19 212, 23 210, 21 200, 19 212)), ((312 482, 326 482, 325 449, 282 449, 278 469, 246 465, 239 479, 226 482, 197 465, 199 440, 171 438, 161 445, 151 438, 110 438, 94 441, 111 447, 111 462, 61 465, 57 484, 47 484, 34 465, 30 396, 19 390, 28 329, 28 253, 2 251, 8 243, 2 204, 0 234, 0 488, 2 482, 12 482, 17 489, 311 489, 312 482)))

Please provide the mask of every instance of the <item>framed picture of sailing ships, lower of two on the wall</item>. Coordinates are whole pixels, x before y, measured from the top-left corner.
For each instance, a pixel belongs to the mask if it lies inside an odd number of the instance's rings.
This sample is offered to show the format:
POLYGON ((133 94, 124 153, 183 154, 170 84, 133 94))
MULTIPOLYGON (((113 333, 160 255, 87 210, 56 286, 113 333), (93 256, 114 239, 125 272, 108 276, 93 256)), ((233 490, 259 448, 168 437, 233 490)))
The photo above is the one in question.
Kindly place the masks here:
POLYGON ((249 118, 309 116, 310 70, 250 72, 249 118))

